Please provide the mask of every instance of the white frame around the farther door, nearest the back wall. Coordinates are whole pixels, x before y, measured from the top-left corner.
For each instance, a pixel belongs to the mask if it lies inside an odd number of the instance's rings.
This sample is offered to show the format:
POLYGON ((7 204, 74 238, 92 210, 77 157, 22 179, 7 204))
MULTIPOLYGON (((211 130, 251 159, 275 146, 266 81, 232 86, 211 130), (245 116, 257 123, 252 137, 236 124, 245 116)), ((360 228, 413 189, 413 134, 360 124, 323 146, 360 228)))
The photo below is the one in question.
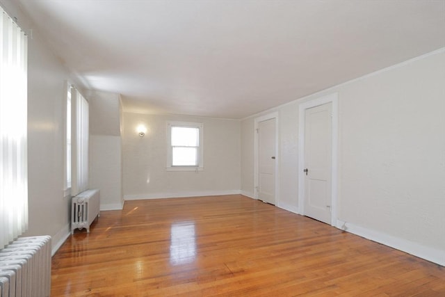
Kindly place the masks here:
POLYGON ((280 160, 280 153, 278 151, 278 132, 280 131, 278 129, 278 112, 275 111, 273 113, 268 113, 266 115, 261 115, 254 119, 254 198, 258 200, 258 190, 259 190, 259 152, 258 152, 258 145, 259 145, 259 139, 258 139, 258 125, 259 122, 264 122, 265 120, 272 120, 275 119, 275 206, 278 205, 278 193, 279 191, 279 178, 278 178, 278 161, 280 160))

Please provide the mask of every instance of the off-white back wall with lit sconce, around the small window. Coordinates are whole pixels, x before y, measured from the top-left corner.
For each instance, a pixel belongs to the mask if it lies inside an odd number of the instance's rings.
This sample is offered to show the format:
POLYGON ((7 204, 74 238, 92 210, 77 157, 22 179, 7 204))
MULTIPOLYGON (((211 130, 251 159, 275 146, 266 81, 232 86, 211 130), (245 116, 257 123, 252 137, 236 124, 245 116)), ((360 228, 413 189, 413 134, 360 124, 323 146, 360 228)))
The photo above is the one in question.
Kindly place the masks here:
POLYGON ((239 193, 240 135, 240 122, 236 120, 124 113, 122 141, 125 200, 239 193), (169 120, 204 124, 203 171, 165 170, 169 120), (136 132, 140 124, 147 127, 143 138, 136 132))

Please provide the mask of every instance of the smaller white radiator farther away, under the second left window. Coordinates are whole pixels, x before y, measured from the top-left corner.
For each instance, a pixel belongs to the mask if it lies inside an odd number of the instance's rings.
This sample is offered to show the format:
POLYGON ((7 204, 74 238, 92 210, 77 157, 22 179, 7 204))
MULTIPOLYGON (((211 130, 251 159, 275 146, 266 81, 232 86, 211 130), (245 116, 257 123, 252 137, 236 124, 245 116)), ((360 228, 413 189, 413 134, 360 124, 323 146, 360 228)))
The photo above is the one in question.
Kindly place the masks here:
POLYGON ((71 234, 76 228, 90 233, 90 225, 96 217, 100 216, 100 191, 88 190, 72 198, 71 208, 71 234))

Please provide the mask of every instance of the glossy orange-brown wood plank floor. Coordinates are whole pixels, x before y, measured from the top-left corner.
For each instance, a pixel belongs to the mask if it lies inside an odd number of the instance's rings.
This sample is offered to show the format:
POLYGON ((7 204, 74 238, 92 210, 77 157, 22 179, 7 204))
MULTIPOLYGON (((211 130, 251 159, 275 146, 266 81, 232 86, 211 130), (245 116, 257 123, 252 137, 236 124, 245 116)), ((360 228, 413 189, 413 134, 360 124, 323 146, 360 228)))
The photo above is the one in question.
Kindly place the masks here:
POLYGON ((102 211, 51 282, 51 296, 445 296, 442 266, 242 195, 102 211))

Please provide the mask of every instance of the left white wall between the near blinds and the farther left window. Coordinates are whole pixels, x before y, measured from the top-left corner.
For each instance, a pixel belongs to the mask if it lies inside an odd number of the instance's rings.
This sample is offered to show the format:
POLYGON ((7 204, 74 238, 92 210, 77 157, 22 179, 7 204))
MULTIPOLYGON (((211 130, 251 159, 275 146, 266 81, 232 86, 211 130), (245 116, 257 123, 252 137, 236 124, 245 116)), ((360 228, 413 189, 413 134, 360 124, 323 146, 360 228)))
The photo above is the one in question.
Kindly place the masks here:
POLYGON ((70 234, 70 200, 63 198, 63 98, 70 77, 17 3, 0 3, 22 29, 34 29, 28 38, 29 228, 24 236, 51 235, 56 250, 70 234))

